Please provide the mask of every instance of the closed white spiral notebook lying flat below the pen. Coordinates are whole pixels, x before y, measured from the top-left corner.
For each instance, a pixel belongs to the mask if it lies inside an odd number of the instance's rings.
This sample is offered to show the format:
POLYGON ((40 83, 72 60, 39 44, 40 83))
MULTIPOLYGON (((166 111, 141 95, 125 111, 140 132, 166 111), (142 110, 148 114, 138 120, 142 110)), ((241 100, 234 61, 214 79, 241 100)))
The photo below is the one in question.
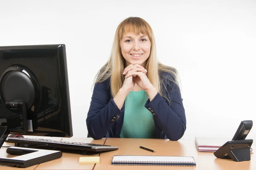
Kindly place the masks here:
POLYGON ((113 165, 195 166, 195 159, 186 156, 128 156, 115 155, 113 165))

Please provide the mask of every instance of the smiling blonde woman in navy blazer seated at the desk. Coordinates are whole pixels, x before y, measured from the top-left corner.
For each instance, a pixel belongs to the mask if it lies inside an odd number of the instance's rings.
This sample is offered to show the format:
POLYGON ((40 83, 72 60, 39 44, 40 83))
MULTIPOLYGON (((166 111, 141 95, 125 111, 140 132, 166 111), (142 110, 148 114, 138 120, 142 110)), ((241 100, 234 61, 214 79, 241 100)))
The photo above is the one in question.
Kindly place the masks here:
POLYGON ((99 70, 87 114, 93 139, 180 139, 186 130, 177 71, 157 61, 154 34, 139 17, 116 29, 111 56, 99 70))

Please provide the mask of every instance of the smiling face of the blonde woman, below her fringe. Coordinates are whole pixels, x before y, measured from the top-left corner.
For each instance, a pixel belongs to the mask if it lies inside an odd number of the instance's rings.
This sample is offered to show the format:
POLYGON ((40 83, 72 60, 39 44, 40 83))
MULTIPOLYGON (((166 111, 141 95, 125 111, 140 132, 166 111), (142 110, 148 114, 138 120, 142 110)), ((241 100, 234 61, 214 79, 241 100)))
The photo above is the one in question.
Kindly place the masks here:
POLYGON ((145 67, 151 49, 151 42, 148 35, 134 33, 124 34, 120 40, 122 56, 125 58, 125 67, 130 64, 139 64, 145 67))

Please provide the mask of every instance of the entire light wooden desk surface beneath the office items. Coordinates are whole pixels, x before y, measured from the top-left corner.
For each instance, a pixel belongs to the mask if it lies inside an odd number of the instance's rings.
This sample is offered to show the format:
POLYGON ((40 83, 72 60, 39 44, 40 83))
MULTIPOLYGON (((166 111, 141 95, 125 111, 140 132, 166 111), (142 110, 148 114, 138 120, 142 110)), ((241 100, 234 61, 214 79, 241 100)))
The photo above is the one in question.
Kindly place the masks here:
MULTIPOLYGON (((60 159, 48 161, 39 165, 24 168, 26 170, 115 170, 115 169, 172 169, 172 170, 256 170, 255 153, 251 154, 251 161, 235 162, 231 159, 217 159, 212 152, 198 152, 194 140, 180 139, 121 139, 108 138, 107 140, 93 140, 92 138, 65 138, 65 141, 86 142, 118 146, 118 150, 100 154, 100 164, 79 164, 82 155, 63 153, 60 159), (155 150, 155 153, 140 149, 139 146, 155 150), (154 155, 154 156, 193 156, 196 161, 195 167, 170 167, 170 166, 134 166, 134 165, 111 165, 114 155, 154 155)), ((86 156, 99 156, 98 153, 86 156)), ((6 148, 0 149, 0 157, 14 157, 6 154, 6 148)), ((20 168, 0 166, 1 170, 17 170, 20 168)), ((23 168, 22 168, 23 169, 23 168)))

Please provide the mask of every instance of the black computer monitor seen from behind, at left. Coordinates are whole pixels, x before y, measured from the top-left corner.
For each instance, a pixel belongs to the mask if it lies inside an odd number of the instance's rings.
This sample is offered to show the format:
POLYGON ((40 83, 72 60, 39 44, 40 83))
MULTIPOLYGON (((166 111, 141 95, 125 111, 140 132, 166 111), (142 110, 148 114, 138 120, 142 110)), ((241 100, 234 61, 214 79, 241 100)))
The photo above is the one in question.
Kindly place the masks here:
POLYGON ((64 44, 0 47, 0 147, 9 133, 73 136, 64 44))

